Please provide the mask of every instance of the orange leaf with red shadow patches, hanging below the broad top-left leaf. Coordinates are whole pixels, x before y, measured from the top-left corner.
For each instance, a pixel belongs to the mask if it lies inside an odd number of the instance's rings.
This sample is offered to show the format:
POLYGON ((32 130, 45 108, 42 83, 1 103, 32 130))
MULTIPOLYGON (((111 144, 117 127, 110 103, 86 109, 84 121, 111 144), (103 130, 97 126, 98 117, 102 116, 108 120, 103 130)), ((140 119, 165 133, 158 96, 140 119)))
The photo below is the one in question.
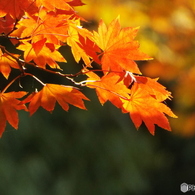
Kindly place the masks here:
POLYGON ((34 49, 33 46, 34 45, 31 45, 28 42, 24 42, 18 46, 18 49, 24 51, 24 60, 26 62, 33 60, 36 65, 41 68, 46 68, 46 64, 48 64, 51 68, 55 69, 60 69, 60 66, 57 64, 57 62, 66 62, 60 52, 57 50, 51 51, 50 48, 47 47, 47 44, 44 46, 41 45, 41 50, 39 50, 40 47, 37 49, 36 46, 34 49), (35 52, 35 50, 37 52, 35 52))

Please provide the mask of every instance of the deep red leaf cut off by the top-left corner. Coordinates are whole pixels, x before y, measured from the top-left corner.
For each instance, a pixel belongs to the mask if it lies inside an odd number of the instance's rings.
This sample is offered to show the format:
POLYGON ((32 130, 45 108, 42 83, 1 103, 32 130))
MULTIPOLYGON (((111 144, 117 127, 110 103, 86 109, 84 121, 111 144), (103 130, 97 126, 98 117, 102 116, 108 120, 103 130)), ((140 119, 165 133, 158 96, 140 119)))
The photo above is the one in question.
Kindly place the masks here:
POLYGON ((34 0, 0 0, 0 17, 9 14, 12 18, 20 18, 34 0))

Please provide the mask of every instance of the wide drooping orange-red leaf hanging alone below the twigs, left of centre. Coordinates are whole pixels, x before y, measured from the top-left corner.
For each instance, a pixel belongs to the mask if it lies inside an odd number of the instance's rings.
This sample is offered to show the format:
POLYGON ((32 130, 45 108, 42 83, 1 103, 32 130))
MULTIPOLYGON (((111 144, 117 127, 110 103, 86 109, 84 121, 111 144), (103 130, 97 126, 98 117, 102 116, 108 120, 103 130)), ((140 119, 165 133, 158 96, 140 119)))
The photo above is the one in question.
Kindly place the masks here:
POLYGON ((56 101, 65 110, 68 111, 69 105, 74 105, 81 109, 86 109, 83 100, 89 100, 83 93, 71 86, 45 84, 39 92, 29 95, 23 103, 30 102, 30 115, 42 106, 47 111, 53 111, 56 101))

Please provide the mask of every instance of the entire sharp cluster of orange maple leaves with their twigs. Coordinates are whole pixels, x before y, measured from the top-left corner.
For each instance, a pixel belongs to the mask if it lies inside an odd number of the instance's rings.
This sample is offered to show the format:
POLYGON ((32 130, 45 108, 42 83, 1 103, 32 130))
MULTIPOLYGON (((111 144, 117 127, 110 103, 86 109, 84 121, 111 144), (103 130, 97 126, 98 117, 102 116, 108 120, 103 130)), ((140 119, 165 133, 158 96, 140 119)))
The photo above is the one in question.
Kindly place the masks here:
POLYGON ((69 104, 86 109, 83 100, 89 99, 77 87, 95 89, 102 105, 110 101, 123 113, 129 113, 136 128, 144 122, 151 134, 155 132, 155 125, 170 130, 165 114, 176 116, 163 103, 171 98, 170 92, 157 79, 141 76, 135 62, 151 59, 139 50, 139 43, 134 40, 138 28, 121 28, 119 18, 116 18, 108 26, 101 20, 98 31, 90 32, 81 26, 80 21, 84 19, 74 10, 75 6, 84 5, 81 0, 0 0, 0 4, 0 36, 10 39, 23 52, 19 56, 0 46, 2 75, 8 79, 12 69, 20 72, 1 89, 0 135, 7 121, 18 128, 17 110, 32 115, 41 106, 51 112, 56 101, 66 111, 69 104), (60 72, 67 66, 59 52, 62 46, 71 48, 77 63, 82 60, 79 73, 60 72), (59 66, 58 62, 65 64, 59 66), (94 63, 98 64, 98 69, 94 69, 94 63), (73 85, 44 83, 26 72, 27 66, 62 76, 73 85), (99 72, 103 76, 99 76, 99 72), (74 77, 80 75, 85 75, 86 79, 76 82, 74 77), (7 92, 17 79, 25 76, 34 78, 42 89, 7 92))

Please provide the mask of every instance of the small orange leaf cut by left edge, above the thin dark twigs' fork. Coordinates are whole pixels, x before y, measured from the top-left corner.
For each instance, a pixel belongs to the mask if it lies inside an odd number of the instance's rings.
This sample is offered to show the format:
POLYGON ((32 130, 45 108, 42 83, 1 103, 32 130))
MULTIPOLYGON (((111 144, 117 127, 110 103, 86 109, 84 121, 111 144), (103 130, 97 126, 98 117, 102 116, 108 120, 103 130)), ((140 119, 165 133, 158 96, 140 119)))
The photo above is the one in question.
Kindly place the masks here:
MULTIPOLYGON (((15 57, 18 57, 17 54, 11 54, 15 57)), ((3 53, 0 49, 0 72, 3 76, 8 79, 9 74, 11 72, 11 68, 19 69, 19 65, 15 59, 13 59, 10 55, 3 53)))

